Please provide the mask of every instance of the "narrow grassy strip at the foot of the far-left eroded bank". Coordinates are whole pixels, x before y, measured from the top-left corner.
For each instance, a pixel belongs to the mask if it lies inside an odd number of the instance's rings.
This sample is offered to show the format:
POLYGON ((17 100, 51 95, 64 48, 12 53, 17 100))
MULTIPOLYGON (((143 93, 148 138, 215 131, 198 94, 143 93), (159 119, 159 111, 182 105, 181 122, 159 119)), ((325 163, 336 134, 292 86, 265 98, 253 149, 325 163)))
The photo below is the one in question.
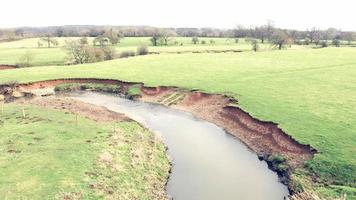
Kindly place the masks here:
POLYGON ((108 92, 108 93, 119 93, 120 86, 118 85, 109 85, 101 83, 64 83, 57 85, 54 88, 55 91, 76 91, 76 90, 91 90, 98 92, 108 92))

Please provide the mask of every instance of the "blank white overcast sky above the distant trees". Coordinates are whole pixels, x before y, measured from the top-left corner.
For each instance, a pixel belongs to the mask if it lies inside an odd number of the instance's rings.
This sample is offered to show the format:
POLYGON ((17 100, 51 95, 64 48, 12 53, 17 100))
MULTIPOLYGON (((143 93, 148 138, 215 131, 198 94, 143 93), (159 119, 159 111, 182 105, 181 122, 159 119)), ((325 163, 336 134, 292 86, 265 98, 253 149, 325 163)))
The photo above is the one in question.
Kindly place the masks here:
POLYGON ((0 0, 0 27, 150 25, 356 31, 355 0, 0 0))

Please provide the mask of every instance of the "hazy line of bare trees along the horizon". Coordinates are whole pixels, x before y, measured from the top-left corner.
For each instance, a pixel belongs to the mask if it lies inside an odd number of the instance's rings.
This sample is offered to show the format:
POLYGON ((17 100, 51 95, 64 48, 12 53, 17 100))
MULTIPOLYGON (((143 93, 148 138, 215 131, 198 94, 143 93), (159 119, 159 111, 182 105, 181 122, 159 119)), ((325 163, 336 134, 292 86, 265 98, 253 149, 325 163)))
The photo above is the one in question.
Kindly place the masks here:
POLYGON ((351 43, 356 40, 356 32, 342 31, 336 28, 321 30, 316 27, 300 31, 292 29, 280 29, 272 22, 261 26, 245 27, 238 25, 233 29, 217 28, 156 28, 149 26, 53 26, 53 27, 21 27, 14 29, 0 29, 0 40, 11 41, 26 37, 98 37, 106 38, 116 43, 120 37, 152 37, 155 45, 165 45, 169 37, 228 37, 228 38, 256 38, 262 43, 271 40, 276 32, 283 33, 297 44, 320 44, 326 40, 343 40, 351 43), (109 31, 108 31, 109 30, 109 31))

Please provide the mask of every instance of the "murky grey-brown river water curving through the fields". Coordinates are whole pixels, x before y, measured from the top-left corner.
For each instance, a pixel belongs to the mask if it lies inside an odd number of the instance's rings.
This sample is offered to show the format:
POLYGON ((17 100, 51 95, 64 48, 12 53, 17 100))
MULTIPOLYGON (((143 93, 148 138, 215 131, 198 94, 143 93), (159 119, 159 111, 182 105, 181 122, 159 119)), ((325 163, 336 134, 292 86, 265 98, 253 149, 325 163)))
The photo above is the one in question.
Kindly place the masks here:
POLYGON ((218 126, 161 105, 94 92, 70 97, 124 113, 160 134, 173 166, 174 200, 283 200, 288 189, 266 162, 218 126))

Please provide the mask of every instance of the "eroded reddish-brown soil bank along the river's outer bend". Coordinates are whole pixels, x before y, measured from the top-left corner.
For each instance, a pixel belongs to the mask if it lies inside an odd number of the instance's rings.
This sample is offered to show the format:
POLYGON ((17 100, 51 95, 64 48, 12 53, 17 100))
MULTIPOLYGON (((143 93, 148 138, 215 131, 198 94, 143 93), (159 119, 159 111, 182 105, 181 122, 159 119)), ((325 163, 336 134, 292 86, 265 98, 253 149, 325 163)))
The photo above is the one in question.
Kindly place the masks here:
MULTIPOLYGON (((262 159, 270 155, 283 155, 287 159, 289 172, 302 167, 316 150, 301 144, 286 134, 273 122, 261 121, 249 113, 233 106, 237 101, 225 95, 187 91, 175 87, 145 87, 143 83, 129 83, 110 79, 60 79, 34 83, 0 86, 0 95, 22 96, 33 90, 54 88, 63 83, 101 83, 120 85, 120 93, 126 94, 132 85, 141 85, 145 102, 159 103, 191 112, 198 118, 212 122, 238 137, 262 159), (11 94, 16 95, 11 95, 11 94)), ((288 179, 288 173, 280 174, 288 179)), ((287 181, 285 181, 287 182, 287 181)))

